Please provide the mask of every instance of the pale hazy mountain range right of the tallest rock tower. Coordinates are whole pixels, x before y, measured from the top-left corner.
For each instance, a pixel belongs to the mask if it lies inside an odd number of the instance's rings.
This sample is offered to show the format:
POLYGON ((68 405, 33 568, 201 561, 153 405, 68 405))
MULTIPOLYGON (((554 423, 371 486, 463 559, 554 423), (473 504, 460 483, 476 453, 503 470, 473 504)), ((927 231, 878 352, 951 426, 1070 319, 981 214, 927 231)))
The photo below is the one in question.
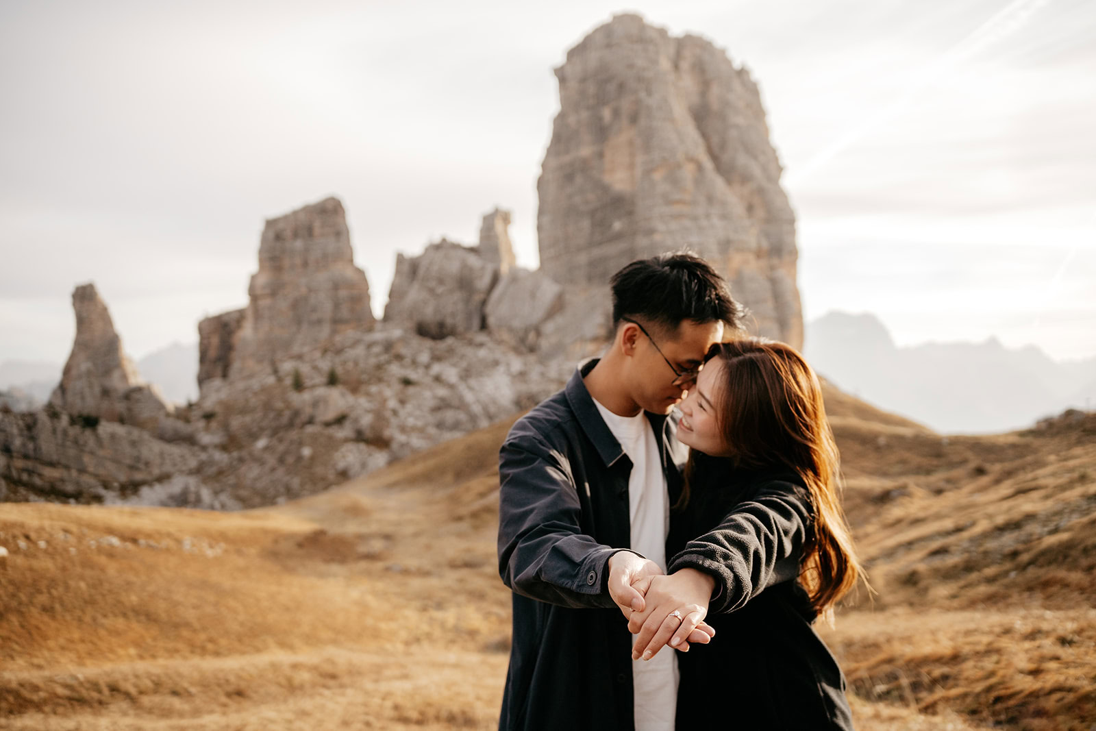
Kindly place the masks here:
POLYGON ((994 338, 898 347, 869 313, 829 312, 807 324, 804 342, 811 365, 838 388, 939 432, 1004 432, 1096 408, 1096 357, 1059 363, 994 338))

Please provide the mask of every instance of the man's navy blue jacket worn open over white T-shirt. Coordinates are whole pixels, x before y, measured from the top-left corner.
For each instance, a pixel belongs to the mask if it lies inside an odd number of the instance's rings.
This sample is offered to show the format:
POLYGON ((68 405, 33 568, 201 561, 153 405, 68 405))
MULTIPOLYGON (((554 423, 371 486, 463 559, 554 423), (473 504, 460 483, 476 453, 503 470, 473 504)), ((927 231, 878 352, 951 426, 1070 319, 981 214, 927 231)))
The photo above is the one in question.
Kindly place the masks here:
MULTIPOLYGON (((607 590, 609 557, 631 542, 631 460, 582 380, 594 364, 500 450, 499 572, 514 591, 500 729, 633 729, 631 635, 607 590)), ((647 416, 673 503, 685 449, 671 420, 647 416)))

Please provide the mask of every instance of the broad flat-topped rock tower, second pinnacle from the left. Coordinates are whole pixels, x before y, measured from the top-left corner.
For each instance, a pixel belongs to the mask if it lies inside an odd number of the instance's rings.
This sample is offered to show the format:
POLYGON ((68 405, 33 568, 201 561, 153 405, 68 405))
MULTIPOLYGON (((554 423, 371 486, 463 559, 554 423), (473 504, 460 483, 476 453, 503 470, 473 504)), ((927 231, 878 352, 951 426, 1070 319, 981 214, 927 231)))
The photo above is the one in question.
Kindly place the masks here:
POLYGON ((243 310, 206 318, 198 381, 269 369, 351 330, 369 330, 369 284, 354 265, 346 212, 328 197, 270 218, 243 310))

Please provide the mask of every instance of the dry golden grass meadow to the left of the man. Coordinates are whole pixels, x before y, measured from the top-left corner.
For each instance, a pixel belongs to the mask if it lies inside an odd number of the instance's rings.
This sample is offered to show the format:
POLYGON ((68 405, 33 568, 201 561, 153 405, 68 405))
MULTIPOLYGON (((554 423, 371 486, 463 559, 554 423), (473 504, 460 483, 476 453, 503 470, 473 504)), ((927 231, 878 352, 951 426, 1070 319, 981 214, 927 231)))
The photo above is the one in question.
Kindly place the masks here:
POLYGON ((0 728, 496 726, 505 430, 276 509, 0 505, 0 728))

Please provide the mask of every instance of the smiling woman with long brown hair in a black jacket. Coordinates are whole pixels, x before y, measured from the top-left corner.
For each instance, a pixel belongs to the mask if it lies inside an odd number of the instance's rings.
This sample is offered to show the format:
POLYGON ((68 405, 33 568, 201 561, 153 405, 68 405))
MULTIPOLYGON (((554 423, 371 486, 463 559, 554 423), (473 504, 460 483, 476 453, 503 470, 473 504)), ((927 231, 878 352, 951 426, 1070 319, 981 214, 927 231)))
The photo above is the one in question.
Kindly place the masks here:
POLYGON ((811 629, 864 578, 818 377, 784 343, 721 343, 681 411, 673 575, 649 580, 631 616, 635 656, 667 640, 687 651, 678 729, 852 729, 844 675, 811 629), (701 620, 711 643, 682 643, 701 620))

